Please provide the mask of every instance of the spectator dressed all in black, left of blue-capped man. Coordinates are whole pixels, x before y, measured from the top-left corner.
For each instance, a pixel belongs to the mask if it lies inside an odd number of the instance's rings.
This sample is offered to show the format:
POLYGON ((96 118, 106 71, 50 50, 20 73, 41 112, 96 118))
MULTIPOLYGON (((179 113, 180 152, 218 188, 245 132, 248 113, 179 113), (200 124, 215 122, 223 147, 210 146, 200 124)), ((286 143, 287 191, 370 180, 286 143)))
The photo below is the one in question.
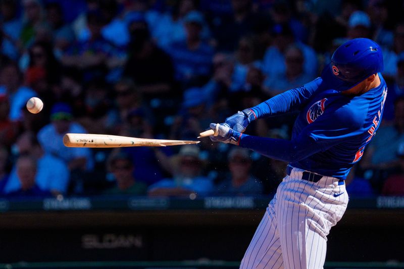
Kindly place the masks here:
POLYGON ((145 18, 138 15, 128 23, 132 40, 124 77, 132 78, 148 100, 162 93, 178 95, 172 90, 174 67, 171 58, 151 40, 145 18))

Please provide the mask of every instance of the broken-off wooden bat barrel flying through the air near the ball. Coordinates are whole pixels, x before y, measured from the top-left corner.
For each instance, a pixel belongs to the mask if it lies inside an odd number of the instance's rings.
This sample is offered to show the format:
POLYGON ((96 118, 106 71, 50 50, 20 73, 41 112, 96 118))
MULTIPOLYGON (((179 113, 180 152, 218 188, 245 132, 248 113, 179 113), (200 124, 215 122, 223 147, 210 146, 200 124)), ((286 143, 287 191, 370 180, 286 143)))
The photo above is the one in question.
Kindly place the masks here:
POLYGON ((65 134, 63 144, 67 147, 136 147, 175 146, 197 144, 200 141, 136 138, 104 134, 65 134))

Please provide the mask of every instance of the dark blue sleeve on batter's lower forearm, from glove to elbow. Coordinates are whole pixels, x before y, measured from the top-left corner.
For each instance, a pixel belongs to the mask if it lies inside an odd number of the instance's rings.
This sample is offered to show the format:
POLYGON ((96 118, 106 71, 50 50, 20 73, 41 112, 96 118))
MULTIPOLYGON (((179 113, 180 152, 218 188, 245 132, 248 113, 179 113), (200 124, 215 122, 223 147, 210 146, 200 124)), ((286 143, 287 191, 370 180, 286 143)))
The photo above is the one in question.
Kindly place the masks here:
POLYGON ((309 141, 305 143, 285 139, 275 139, 242 134, 239 146, 249 148, 267 157, 284 162, 298 162, 318 150, 309 141))

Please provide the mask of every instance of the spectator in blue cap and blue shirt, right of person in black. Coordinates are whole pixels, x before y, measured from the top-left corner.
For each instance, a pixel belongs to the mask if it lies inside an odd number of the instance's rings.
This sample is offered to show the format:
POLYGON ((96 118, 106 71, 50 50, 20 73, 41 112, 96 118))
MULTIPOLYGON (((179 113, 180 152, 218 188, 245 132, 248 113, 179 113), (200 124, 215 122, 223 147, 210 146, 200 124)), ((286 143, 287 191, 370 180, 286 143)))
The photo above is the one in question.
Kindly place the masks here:
POLYGON ((211 72, 214 49, 201 39, 205 20, 197 11, 189 12, 185 18, 186 40, 172 43, 167 52, 175 67, 175 78, 186 85, 192 81, 206 80, 211 72))

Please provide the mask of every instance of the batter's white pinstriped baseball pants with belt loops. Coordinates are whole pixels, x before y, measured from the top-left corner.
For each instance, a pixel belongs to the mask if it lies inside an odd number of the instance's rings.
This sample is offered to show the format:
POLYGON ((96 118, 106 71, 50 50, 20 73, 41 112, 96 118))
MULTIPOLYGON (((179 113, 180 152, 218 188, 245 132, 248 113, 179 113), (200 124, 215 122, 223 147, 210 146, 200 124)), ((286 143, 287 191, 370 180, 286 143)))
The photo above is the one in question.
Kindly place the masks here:
POLYGON ((279 184, 240 269, 323 268, 327 235, 342 218, 348 195, 338 179, 309 182, 301 179, 303 171, 293 168, 279 184))

